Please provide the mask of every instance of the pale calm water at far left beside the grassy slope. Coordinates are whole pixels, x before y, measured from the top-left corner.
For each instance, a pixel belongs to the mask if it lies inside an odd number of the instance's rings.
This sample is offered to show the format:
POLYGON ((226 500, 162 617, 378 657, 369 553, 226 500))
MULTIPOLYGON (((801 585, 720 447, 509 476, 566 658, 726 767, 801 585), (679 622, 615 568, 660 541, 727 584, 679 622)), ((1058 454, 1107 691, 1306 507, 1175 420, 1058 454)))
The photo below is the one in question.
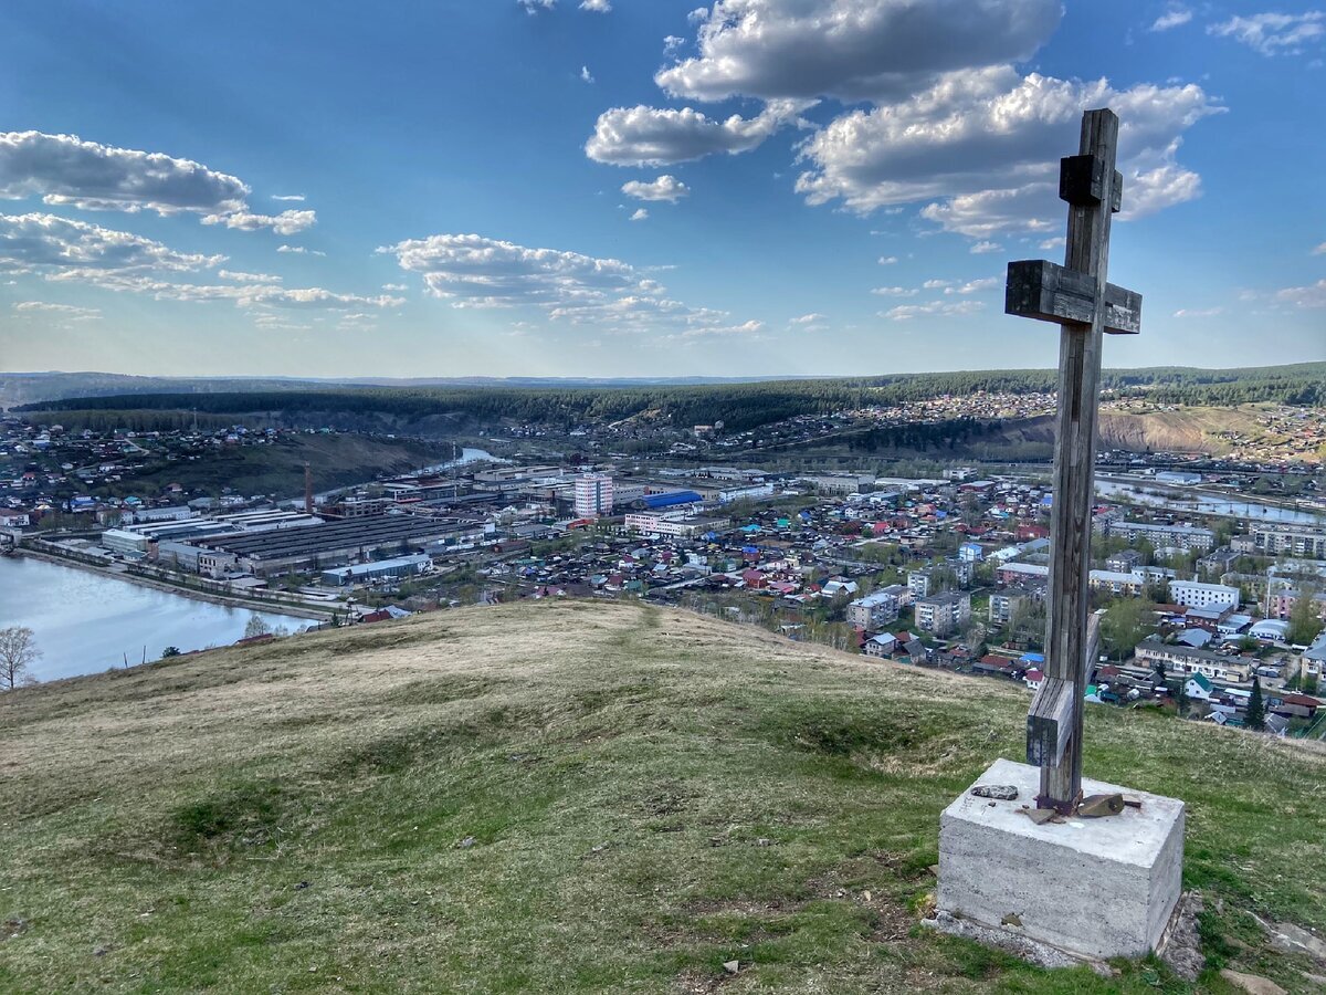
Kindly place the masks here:
POLYGON ((225 646, 244 635, 253 614, 294 631, 309 625, 271 612, 251 612, 143 588, 74 566, 0 556, 0 629, 25 625, 36 634, 38 681, 99 674, 159 659, 162 650, 225 646))

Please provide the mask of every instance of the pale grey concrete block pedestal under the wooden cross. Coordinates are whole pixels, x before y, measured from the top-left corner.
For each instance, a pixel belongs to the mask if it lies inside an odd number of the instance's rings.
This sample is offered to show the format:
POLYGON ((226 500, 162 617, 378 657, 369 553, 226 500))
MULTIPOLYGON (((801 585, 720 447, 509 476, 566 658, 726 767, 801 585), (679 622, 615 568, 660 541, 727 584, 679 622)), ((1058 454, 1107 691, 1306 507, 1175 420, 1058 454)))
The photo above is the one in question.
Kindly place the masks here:
POLYGON ((1012 784, 1016 801, 964 792, 939 823, 944 913, 1004 929, 1070 954, 1144 957, 1160 942, 1183 890, 1183 803, 1082 780, 1085 795, 1140 799, 1105 819, 1036 825, 1041 772, 996 760, 977 784, 1012 784))

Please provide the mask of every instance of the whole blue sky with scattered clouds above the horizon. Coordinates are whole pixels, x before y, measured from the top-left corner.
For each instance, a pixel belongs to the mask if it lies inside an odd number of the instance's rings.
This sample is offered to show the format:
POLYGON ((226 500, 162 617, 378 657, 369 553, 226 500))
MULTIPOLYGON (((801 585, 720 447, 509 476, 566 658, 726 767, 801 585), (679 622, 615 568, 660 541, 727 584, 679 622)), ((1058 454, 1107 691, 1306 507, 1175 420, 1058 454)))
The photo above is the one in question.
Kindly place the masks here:
POLYGON ((1321 8, 696 3, 7 3, 0 369, 1050 366, 1103 103, 1106 364, 1326 358, 1321 8))

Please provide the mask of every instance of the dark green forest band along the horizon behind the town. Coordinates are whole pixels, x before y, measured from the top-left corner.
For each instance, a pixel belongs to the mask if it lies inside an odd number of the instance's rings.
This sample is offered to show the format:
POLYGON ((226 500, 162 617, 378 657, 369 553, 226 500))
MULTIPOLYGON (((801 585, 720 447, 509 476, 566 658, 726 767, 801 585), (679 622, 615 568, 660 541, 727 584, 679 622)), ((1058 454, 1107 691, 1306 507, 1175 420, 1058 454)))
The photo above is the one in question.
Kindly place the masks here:
MULTIPOLYGON (((1053 370, 896 374, 843 379, 765 381, 703 386, 622 387, 335 387, 210 394, 121 394, 21 405, 15 411, 198 411, 298 419, 386 417, 412 422, 448 415, 476 425, 511 419, 572 427, 640 418, 691 426, 721 421, 745 431, 796 415, 827 415, 976 391, 1032 394, 1054 390, 1053 370)), ((1326 403, 1326 362, 1235 370, 1177 366, 1106 370, 1102 387, 1159 403, 1232 406, 1262 401, 1326 403)))

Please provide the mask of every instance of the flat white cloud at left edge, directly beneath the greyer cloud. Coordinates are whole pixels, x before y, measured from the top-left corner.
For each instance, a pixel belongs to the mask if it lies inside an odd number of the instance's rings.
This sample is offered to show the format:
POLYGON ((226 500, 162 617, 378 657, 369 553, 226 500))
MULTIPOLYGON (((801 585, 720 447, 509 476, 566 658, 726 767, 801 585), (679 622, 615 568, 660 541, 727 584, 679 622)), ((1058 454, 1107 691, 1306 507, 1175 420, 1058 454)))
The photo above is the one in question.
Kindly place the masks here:
POLYGON ((0 215, 0 272, 187 272, 224 260, 225 256, 176 252, 139 235, 52 214, 0 215))

